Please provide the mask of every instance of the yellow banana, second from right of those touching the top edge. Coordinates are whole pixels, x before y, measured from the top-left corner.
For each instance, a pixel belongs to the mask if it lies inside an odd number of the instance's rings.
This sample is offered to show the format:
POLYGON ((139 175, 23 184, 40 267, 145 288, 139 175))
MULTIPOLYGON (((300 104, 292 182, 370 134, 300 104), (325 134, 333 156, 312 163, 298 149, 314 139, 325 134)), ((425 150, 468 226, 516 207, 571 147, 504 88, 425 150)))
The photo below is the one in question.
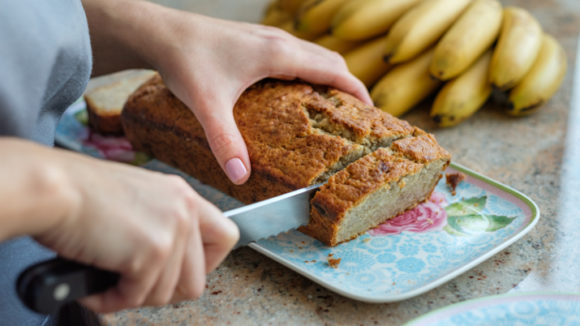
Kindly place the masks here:
POLYGON ((401 63, 433 45, 470 0, 423 0, 407 11, 387 36, 385 60, 401 63))

